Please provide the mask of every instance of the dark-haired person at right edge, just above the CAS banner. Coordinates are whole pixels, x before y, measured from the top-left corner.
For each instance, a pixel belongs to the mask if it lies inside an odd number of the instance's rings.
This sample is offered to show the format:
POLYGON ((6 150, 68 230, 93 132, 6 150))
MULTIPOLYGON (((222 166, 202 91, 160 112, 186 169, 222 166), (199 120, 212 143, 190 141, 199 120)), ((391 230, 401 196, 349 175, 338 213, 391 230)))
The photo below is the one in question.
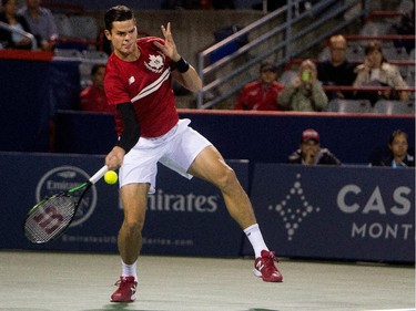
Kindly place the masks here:
POLYGON ((415 157, 408 153, 407 133, 397 129, 388 137, 387 148, 376 151, 371 160, 372 166, 405 168, 415 166, 415 157))

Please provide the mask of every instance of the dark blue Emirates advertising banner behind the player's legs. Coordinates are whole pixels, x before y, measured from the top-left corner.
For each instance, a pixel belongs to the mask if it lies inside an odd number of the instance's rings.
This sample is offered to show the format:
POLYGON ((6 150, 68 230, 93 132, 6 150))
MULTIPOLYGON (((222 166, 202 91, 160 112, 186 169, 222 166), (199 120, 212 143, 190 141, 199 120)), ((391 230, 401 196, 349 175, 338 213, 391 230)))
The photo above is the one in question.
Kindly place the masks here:
MULTIPOLYGON (((0 154, 2 190, 0 249, 116 252, 123 210, 118 185, 99 180, 83 197, 71 227, 58 240, 32 245, 23 236, 27 211, 40 199, 68 190, 94 174, 103 156, 0 154)), ((244 187, 248 164, 230 162, 244 187)), ((156 194, 148 200, 142 253, 232 256, 243 232, 230 217, 221 193, 159 167, 156 194)))

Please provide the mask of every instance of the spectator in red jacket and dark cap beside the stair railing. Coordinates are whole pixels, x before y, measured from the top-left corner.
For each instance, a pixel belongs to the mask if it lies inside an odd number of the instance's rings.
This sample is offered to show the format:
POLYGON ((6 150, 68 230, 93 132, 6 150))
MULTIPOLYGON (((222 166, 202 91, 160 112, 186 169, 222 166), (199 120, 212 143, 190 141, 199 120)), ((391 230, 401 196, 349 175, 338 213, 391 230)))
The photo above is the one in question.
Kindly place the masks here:
POLYGON ((264 62, 260 66, 260 80, 246 84, 234 110, 245 111, 277 111, 282 110, 277 103, 278 93, 283 85, 276 82, 277 68, 264 62))

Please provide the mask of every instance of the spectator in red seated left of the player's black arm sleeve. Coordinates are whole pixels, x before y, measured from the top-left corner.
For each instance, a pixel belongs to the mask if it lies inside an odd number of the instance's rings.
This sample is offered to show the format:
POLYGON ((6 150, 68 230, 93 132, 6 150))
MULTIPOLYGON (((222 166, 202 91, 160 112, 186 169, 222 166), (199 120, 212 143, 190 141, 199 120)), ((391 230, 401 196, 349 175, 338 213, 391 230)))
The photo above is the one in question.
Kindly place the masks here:
POLYGON ((115 106, 109 105, 104 92, 105 65, 95 64, 91 70, 92 85, 80 94, 80 110, 89 112, 115 113, 115 106))

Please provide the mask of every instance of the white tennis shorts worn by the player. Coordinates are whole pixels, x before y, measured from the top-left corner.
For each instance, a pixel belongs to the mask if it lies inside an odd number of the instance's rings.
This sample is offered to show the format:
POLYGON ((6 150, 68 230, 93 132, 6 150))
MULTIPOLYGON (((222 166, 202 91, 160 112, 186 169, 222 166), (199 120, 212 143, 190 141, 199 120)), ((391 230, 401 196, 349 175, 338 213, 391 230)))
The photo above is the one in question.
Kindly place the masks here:
POLYGON ((119 170, 120 187, 128 184, 150 184, 149 194, 156 187, 158 162, 191 179, 187 169, 206 146, 209 139, 187 126, 190 120, 180 120, 166 134, 160 137, 140 137, 135 146, 124 156, 119 170))

